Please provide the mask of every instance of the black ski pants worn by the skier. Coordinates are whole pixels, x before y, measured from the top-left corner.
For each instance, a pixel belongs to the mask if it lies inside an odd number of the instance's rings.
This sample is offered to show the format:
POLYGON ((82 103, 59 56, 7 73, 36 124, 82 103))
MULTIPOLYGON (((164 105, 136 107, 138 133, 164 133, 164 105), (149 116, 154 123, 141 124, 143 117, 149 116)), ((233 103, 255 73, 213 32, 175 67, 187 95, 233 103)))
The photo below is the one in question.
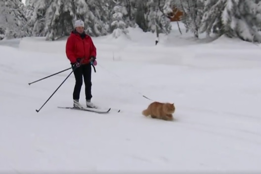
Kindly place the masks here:
POLYGON ((74 70, 75 87, 73 92, 73 99, 80 99, 80 92, 83 85, 83 77, 85 83, 85 96, 86 100, 90 100, 91 95, 91 65, 84 64, 74 70))

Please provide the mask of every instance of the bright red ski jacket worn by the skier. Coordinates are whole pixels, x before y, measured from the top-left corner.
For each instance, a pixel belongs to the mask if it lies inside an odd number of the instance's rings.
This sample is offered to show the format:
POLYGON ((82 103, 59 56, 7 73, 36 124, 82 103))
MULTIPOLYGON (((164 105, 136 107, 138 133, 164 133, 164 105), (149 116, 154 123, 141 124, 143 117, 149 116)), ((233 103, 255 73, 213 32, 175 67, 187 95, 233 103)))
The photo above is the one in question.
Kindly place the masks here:
POLYGON ((66 55, 71 63, 76 63, 77 58, 84 58, 82 63, 87 64, 91 56, 96 57, 96 47, 88 35, 82 39, 79 33, 72 31, 66 42, 66 55))

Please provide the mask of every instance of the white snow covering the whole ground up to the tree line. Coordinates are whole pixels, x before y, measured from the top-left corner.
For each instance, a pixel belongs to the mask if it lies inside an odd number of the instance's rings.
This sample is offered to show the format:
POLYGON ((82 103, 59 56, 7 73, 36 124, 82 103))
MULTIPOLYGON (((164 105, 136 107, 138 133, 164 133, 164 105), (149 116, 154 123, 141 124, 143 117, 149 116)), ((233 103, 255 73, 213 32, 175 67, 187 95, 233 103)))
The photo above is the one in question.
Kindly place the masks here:
POLYGON ((73 75, 35 111, 70 73, 28 85, 70 67, 65 40, 0 42, 0 171, 260 172, 260 46, 193 41, 175 23, 155 46, 155 34, 128 30, 93 38, 92 101, 106 115, 57 108, 73 104, 73 75), (174 102, 175 121, 142 116, 142 95, 174 102))

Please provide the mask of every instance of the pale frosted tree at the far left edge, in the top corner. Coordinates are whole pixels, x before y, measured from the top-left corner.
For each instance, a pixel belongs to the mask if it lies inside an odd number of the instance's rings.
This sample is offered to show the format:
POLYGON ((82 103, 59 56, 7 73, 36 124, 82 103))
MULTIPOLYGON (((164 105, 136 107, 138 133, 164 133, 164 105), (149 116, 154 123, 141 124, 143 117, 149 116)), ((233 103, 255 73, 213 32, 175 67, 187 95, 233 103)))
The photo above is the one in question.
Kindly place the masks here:
POLYGON ((21 0, 0 0, 0 40, 28 36, 25 6, 21 0))

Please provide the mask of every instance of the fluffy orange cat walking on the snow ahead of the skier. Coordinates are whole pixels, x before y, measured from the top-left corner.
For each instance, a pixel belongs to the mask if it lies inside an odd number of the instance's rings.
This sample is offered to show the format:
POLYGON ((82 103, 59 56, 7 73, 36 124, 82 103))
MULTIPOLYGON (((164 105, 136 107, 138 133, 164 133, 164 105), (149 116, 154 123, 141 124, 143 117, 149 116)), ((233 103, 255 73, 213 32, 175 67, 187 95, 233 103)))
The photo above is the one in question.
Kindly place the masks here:
POLYGON ((154 119, 162 119, 166 121, 173 120, 173 113, 175 111, 174 103, 161 103, 161 102, 153 102, 151 103, 147 109, 142 111, 142 115, 151 116, 154 119))

